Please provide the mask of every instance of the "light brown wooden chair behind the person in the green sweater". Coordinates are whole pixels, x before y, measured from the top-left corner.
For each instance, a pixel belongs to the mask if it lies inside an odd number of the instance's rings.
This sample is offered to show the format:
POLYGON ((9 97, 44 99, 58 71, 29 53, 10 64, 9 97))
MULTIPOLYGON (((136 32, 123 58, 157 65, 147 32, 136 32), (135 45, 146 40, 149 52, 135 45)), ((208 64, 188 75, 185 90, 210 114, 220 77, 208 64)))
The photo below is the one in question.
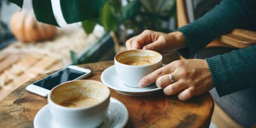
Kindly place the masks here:
MULTIPOLYGON (((189 21, 184 0, 176 0, 176 7, 178 27, 187 25, 189 21)), ((252 46, 253 44, 256 44, 256 32, 234 29, 231 33, 222 35, 220 39, 213 40, 206 47, 245 48, 252 46)), ((185 59, 182 56, 180 56, 180 58, 185 59)), ((228 116, 217 103, 215 103, 212 121, 218 128, 242 128, 242 126, 231 119, 231 117, 228 116)))

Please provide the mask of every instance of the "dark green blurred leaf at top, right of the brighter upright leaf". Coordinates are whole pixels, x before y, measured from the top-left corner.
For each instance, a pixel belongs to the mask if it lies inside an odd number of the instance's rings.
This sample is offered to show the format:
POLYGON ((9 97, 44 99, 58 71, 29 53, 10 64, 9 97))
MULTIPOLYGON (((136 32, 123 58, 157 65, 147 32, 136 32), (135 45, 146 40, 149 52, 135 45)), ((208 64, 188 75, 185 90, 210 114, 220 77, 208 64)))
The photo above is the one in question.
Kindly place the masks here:
POLYGON ((128 5, 122 9, 123 19, 126 20, 135 16, 140 10, 140 5, 141 3, 139 0, 133 0, 129 2, 128 5))

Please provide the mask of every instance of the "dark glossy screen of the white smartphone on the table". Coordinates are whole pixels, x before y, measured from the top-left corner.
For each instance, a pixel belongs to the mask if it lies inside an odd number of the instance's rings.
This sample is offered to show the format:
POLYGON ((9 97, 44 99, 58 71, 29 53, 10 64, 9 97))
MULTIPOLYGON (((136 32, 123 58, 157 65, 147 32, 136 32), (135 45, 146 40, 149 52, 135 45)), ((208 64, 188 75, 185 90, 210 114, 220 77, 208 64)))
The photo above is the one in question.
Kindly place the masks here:
POLYGON ((86 72, 81 72, 81 71, 74 70, 71 68, 65 68, 64 70, 56 72, 55 74, 45 77, 45 78, 41 79, 40 81, 37 81, 33 84, 36 86, 51 90, 55 86, 57 86, 63 82, 72 81, 72 80, 76 79, 77 77, 80 77, 84 74, 86 74, 86 72))

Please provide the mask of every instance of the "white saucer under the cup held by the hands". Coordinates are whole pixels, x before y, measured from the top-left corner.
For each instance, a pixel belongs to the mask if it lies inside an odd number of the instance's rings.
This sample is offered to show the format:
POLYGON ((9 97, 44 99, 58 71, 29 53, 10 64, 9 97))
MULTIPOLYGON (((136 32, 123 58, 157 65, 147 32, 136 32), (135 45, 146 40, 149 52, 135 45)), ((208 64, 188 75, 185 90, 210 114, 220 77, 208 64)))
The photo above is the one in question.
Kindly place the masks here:
POLYGON ((124 85, 121 81, 119 81, 117 77, 115 65, 110 66, 109 68, 104 70, 100 78, 103 84, 105 84, 109 88, 115 89, 117 92, 128 96, 152 95, 162 89, 156 87, 156 84, 152 84, 150 86, 147 86, 146 88, 132 88, 124 85))

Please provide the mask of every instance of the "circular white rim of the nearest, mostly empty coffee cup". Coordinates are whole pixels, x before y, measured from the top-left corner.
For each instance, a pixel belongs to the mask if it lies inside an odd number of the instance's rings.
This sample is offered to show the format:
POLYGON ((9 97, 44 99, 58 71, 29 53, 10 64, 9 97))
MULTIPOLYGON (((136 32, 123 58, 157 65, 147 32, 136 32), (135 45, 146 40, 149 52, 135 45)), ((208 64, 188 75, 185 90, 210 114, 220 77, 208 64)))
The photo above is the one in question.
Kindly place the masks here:
MULTIPOLYGON (((93 81, 93 80, 76 80, 76 81, 93 81)), ((63 84, 66 84, 66 83, 69 83, 69 82, 75 82, 75 81, 67 81, 67 82, 64 82, 64 83, 61 83, 59 84, 58 86, 62 86, 63 84)), ((98 83, 101 83, 103 84, 102 82, 99 82, 99 81, 94 81, 94 82, 98 82, 98 83)), ((104 85, 104 84, 103 84, 104 85)), ((96 107, 100 104, 102 104, 103 102, 105 102, 107 99, 110 98, 110 90, 109 88, 107 87, 107 89, 109 90, 109 95, 106 96, 106 98, 104 100, 102 100, 101 102, 95 104, 95 105, 92 105, 92 106, 89 106, 89 107, 79 107, 79 108, 76 108, 76 107, 65 107, 65 106, 61 106, 61 105, 58 105, 57 103, 53 102, 53 100, 51 100, 51 93, 52 91, 57 88, 58 86, 54 87, 53 89, 51 89, 51 92, 48 94, 47 96, 47 101, 48 101, 48 104, 49 102, 51 102, 54 106, 60 108, 60 109, 66 109, 66 110, 84 110, 84 109, 90 109, 90 108, 93 108, 93 107, 96 107)))

